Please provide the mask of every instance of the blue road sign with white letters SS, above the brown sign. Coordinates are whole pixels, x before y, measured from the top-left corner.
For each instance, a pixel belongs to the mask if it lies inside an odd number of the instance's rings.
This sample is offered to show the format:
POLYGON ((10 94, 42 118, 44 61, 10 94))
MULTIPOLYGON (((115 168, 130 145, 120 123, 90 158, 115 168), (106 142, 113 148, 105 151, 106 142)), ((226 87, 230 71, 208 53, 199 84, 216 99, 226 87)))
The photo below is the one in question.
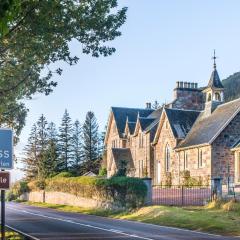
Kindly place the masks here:
POLYGON ((13 168, 13 132, 0 128, 0 169, 13 168))

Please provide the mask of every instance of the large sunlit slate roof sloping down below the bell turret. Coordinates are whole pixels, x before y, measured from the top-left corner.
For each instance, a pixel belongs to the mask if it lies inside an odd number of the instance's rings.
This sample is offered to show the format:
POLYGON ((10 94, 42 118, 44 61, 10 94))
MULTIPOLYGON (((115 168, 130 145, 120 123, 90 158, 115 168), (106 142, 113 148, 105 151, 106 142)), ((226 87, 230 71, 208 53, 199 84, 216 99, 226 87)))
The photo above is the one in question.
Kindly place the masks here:
POLYGON ((208 117, 202 112, 192 129, 176 149, 200 144, 211 144, 226 124, 240 111, 240 98, 219 105, 208 117))

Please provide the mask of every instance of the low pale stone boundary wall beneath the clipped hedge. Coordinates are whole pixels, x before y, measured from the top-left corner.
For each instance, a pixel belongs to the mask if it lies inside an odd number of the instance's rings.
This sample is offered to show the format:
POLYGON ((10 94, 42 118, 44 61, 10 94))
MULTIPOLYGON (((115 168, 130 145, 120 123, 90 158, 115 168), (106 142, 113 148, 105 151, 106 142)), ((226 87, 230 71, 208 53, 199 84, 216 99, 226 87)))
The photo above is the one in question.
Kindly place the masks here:
POLYGON ((83 208, 114 208, 111 202, 104 202, 97 199, 78 197, 73 194, 63 192, 36 191, 25 193, 20 197, 20 199, 30 202, 62 204, 83 208))

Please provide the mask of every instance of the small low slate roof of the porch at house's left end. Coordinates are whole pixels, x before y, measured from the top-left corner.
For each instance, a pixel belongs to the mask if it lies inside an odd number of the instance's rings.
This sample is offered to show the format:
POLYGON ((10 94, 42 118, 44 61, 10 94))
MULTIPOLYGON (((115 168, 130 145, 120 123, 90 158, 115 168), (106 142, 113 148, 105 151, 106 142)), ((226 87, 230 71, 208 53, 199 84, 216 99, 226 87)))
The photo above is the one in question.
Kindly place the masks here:
POLYGON ((130 168, 134 168, 132 154, 129 148, 112 148, 112 155, 116 167, 119 168, 121 161, 125 160, 130 168))

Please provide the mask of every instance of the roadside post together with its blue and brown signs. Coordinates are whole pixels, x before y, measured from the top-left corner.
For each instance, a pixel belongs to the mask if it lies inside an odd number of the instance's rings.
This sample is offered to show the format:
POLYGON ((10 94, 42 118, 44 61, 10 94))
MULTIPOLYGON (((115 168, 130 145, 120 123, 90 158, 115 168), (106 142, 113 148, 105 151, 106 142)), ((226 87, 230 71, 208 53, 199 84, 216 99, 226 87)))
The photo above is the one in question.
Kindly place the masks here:
POLYGON ((6 169, 13 168, 13 132, 0 129, 0 189, 1 189, 1 239, 5 240, 5 190, 10 186, 10 174, 6 169))

